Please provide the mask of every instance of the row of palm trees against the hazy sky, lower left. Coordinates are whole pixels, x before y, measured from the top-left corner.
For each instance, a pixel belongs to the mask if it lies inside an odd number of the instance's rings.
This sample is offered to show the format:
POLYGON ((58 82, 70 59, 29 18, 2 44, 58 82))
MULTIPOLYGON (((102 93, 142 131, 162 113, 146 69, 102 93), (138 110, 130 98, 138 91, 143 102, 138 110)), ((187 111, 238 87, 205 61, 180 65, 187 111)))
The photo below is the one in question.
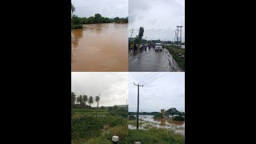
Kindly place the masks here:
POLYGON ((88 97, 87 95, 77 96, 74 92, 71 91, 71 107, 77 106, 75 102, 79 102, 80 108, 90 107, 91 104, 93 104, 94 102, 97 102, 97 108, 98 108, 99 101, 100 101, 99 96, 96 96, 95 98, 93 98, 92 96, 88 97), (86 102, 88 102, 89 106, 86 105, 86 102))

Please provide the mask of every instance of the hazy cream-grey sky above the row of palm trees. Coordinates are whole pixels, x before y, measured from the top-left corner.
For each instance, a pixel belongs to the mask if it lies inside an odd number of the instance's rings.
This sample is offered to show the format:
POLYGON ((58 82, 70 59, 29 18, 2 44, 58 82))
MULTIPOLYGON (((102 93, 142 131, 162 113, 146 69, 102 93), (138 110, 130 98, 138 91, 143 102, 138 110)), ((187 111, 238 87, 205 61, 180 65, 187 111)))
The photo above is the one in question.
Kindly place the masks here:
MULTIPOLYGON (((126 105, 127 72, 72 72, 71 91, 94 98, 101 93, 98 106, 126 105)), ((91 106, 97 106, 97 102, 91 106)))

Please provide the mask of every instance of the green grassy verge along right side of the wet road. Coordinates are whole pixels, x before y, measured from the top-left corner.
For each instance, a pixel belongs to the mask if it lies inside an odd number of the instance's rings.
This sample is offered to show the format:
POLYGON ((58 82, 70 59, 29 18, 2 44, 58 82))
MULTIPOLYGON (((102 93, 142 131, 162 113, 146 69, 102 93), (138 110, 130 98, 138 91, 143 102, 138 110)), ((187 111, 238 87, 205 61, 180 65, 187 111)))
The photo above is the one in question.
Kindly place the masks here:
POLYGON ((174 60, 178 63, 178 66, 180 66, 180 68, 185 71, 185 58, 181 58, 178 55, 181 53, 181 55, 185 56, 185 49, 180 49, 173 46, 165 46, 165 48, 169 51, 170 54, 172 54, 174 60))

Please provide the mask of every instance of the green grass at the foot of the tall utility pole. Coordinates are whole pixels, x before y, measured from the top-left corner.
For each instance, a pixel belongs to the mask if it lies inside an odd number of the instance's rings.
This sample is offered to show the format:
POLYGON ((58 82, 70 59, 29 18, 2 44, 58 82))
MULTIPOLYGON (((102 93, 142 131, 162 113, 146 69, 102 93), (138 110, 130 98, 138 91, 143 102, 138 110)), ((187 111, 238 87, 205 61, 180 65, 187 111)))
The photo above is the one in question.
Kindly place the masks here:
POLYGON ((180 134, 175 134, 173 130, 167 129, 154 129, 148 130, 129 130, 127 136, 127 143, 134 143, 140 141, 146 144, 162 143, 162 144, 183 144, 185 143, 184 137, 180 134))

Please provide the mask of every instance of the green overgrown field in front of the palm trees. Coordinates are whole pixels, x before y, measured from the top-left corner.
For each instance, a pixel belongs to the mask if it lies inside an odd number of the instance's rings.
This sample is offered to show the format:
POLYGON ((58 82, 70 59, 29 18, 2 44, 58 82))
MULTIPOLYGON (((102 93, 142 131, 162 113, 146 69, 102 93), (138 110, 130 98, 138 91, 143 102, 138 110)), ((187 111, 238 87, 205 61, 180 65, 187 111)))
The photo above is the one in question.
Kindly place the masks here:
POLYGON ((71 116, 71 143, 111 143, 118 135, 125 142, 128 134, 127 118, 110 115, 109 110, 73 109, 71 116))

